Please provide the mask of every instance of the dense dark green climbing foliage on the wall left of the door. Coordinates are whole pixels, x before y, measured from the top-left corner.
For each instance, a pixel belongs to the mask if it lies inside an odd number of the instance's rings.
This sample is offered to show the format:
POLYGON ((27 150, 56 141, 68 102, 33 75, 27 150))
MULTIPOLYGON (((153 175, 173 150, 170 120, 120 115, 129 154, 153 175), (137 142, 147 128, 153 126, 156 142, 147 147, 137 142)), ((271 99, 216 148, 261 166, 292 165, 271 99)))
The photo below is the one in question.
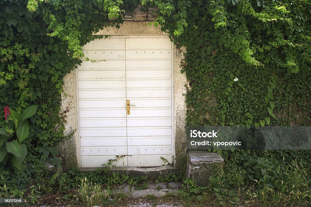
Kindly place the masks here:
MULTIPOLYGON (((44 174, 42 168, 48 156, 53 157, 53 164, 59 165, 61 162, 55 145, 66 138, 63 135, 66 114, 59 113, 63 77, 81 62, 72 58, 73 52, 68 52, 67 42, 46 35, 50 19, 46 19, 45 14, 50 9, 64 19, 67 14, 68 21, 72 20, 70 14, 80 19, 77 25, 80 26, 80 44, 92 39, 87 37, 100 28, 104 17, 95 14, 96 7, 92 5, 80 5, 78 8, 76 2, 71 1, 60 5, 57 5, 57 1, 50 2, 50 5, 46 4, 47 8, 38 8, 33 13, 27 10, 26 1, 1 1, 0 6, 0 108, 9 106, 17 115, 21 115, 28 106, 39 105, 36 115, 29 119, 30 132, 23 140, 28 154, 19 166, 21 170, 14 173, 17 179, 8 173, 14 171, 9 159, 0 163, 3 176, 0 185, 6 183, 11 191, 20 189, 19 193, 22 193, 22 189, 32 182, 40 183, 38 179, 44 174)), ((1 113, 0 128, 5 126, 1 113)))

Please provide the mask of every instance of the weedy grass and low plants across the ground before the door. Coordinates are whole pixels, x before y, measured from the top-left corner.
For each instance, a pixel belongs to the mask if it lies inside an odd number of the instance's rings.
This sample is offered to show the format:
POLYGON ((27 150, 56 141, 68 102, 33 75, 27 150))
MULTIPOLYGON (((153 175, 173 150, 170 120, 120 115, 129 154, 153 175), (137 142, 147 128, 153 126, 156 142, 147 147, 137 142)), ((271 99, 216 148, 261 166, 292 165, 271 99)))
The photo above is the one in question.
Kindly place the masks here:
MULTIPOLYGON (((10 204, 3 206, 40 206, 40 205, 67 205, 70 206, 118 206, 125 207, 131 204, 135 206, 137 202, 149 203, 152 206, 161 204, 171 204, 184 207, 206 207, 206 206, 311 206, 311 180, 309 173, 302 164, 293 161, 286 168, 268 169, 272 178, 267 180, 255 180, 252 185, 240 187, 209 187, 202 189, 191 181, 185 181, 189 187, 185 187, 181 193, 167 193, 165 196, 147 195, 143 198, 131 198, 127 194, 118 190, 118 184, 96 184, 86 177, 80 178, 79 185, 67 191, 55 184, 53 191, 45 188, 36 189, 28 187, 27 191, 12 191, 6 185, 0 186, 0 197, 21 197, 27 203, 10 204), (271 172, 270 172, 271 171, 271 172), (263 186, 263 187, 260 187, 263 186), (14 195, 13 195, 14 194, 14 195)), ((146 179, 129 180, 130 187, 145 188, 146 179)), ((155 182, 155 181, 154 181, 155 182)), ((44 185, 43 185, 44 186, 44 185)), ((158 189, 159 190, 159 189, 158 189)), ((1 205, 2 206, 2 205, 1 205)))

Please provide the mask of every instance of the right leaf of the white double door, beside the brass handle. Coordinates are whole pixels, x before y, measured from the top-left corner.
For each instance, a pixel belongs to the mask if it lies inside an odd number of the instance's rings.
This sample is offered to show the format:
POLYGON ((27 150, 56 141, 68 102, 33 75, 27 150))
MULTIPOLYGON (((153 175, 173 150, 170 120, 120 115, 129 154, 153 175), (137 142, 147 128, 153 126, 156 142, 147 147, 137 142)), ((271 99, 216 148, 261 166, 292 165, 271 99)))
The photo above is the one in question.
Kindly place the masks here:
POLYGON ((172 68, 169 38, 126 38, 128 165, 172 162, 172 68))

